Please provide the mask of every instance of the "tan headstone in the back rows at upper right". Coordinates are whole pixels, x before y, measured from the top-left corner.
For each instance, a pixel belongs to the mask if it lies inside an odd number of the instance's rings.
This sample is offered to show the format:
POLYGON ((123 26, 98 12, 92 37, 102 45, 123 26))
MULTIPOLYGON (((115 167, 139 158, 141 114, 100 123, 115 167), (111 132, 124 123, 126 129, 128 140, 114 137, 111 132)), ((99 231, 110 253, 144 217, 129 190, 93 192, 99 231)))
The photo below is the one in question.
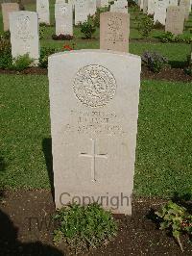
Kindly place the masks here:
POLYGON ((166 14, 165 31, 175 35, 182 34, 184 29, 184 13, 181 7, 169 6, 166 14))

